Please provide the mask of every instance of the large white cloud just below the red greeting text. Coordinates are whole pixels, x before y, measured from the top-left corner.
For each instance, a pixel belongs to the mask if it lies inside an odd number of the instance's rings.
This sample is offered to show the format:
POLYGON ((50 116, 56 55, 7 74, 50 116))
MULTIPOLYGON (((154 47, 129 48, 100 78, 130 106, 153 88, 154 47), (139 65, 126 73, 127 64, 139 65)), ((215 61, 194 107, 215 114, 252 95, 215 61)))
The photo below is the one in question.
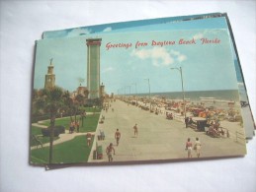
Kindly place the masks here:
POLYGON ((133 49, 131 56, 135 56, 139 59, 151 59, 152 65, 169 66, 175 62, 183 62, 187 59, 187 56, 179 51, 171 50, 167 51, 164 47, 153 47, 151 49, 133 49))

